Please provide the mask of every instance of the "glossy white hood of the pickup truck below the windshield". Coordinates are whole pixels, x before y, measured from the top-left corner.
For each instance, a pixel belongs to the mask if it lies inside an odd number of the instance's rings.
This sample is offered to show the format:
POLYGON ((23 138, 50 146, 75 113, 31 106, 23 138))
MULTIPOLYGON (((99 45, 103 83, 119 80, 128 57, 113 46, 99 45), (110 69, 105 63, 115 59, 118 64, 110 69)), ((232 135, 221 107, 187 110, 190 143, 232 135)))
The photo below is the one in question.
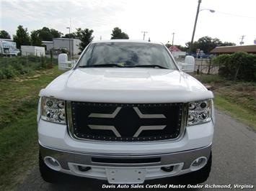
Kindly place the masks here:
POLYGON ((173 103, 213 98, 213 93, 179 70, 78 68, 53 80, 40 96, 67 101, 173 103))

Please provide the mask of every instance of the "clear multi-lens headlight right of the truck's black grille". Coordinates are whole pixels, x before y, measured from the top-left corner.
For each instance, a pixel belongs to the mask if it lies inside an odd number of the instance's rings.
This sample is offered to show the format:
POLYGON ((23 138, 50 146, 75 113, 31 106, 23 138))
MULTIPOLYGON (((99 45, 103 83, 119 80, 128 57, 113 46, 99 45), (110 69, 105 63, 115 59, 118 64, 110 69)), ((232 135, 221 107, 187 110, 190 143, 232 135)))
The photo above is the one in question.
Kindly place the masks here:
POLYGON ((211 99, 188 103, 187 126, 211 121, 211 99))

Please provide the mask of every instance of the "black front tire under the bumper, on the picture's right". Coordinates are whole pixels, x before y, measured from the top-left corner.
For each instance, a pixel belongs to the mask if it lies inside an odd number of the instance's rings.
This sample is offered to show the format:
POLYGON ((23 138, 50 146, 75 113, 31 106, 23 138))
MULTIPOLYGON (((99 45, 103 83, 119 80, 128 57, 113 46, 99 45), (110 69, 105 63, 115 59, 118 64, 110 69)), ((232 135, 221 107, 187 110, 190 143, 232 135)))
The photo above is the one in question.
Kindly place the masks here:
POLYGON ((202 169, 180 176, 180 182, 183 184, 185 183, 186 185, 197 185, 206 182, 211 172, 211 158, 212 154, 210 154, 206 166, 204 166, 202 169))

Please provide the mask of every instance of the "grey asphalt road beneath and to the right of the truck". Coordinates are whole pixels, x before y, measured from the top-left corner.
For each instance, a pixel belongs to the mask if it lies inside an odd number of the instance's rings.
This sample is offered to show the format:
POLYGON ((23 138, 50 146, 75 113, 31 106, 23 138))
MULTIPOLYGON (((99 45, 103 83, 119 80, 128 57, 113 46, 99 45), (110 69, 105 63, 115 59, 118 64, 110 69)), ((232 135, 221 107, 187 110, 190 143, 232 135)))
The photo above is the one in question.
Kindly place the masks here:
MULTIPOLYGON (((177 184, 175 179, 146 181, 145 185, 177 184)), ((256 134, 244 124, 216 111, 216 129, 213 140, 213 166, 203 185, 254 185, 256 186, 256 134)), ((110 190, 102 189, 107 182, 69 177, 63 183, 51 185, 40 177, 37 167, 26 177, 17 190, 110 190)), ((254 188, 256 190, 256 187, 254 188)), ((129 189, 124 189, 129 190, 129 189)), ((136 189, 133 189, 136 190, 136 189)), ((139 189, 158 190, 158 189, 139 189)), ((165 190, 165 189, 161 189, 165 190)), ((168 190, 168 189, 167 189, 168 190)), ((194 190, 208 190, 194 189, 194 190)), ((218 190, 218 189, 212 189, 218 190)), ((245 189, 247 190, 247 189, 245 189)))

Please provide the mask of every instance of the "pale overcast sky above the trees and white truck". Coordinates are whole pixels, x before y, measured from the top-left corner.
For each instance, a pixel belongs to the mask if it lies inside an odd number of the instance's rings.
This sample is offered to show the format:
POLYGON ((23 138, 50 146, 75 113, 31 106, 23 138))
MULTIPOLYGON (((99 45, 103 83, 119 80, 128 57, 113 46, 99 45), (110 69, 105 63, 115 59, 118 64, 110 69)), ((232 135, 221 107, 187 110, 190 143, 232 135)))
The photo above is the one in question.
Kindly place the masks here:
MULTIPOLYGON (((0 30, 15 34, 21 24, 31 32, 49 27, 69 33, 76 28, 94 30, 94 39, 110 39, 120 27, 130 39, 185 45, 190 42, 198 0, 0 0, 0 30)), ((195 40, 209 36, 222 42, 252 45, 256 39, 256 0, 202 0, 195 40), (211 13, 208 9, 213 9, 211 13)))

